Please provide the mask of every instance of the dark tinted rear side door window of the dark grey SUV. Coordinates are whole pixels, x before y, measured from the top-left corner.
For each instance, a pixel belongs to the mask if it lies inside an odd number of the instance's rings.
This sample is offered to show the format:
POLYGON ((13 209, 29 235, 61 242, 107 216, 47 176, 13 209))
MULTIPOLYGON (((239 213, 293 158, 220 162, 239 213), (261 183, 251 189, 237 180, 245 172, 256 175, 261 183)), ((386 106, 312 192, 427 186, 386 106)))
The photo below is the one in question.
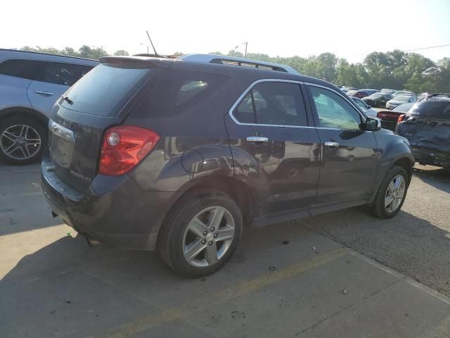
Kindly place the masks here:
POLYGON ((286 82, 261 82, 252 87, 233 111, 240 123, 307 125, 300 86, 286 82))

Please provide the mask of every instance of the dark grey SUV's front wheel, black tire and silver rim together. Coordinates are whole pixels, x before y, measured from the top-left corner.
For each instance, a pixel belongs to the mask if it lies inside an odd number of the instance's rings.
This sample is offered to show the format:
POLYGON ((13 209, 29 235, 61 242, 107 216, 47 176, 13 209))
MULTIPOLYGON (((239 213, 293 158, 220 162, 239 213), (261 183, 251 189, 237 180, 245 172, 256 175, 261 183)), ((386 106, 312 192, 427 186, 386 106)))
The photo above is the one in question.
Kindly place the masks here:
POLYGON ((394 165, 380 184, 372 212, 378 218, 392 218, 403 206, 409 187, 409 177, 404 168, 394 165))

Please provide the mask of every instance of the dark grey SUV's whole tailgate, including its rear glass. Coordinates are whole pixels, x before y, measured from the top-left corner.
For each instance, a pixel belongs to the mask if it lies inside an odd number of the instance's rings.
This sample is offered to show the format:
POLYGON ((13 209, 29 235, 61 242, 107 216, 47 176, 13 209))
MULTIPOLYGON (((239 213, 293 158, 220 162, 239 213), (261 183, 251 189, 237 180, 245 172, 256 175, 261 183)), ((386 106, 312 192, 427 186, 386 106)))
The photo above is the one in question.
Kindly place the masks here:
POLYGON ((101 64, 63 95, 49 121, 50 158, 61 180, 89 191, 105 130, 122 123, 156 73, 153 63, 101 64))

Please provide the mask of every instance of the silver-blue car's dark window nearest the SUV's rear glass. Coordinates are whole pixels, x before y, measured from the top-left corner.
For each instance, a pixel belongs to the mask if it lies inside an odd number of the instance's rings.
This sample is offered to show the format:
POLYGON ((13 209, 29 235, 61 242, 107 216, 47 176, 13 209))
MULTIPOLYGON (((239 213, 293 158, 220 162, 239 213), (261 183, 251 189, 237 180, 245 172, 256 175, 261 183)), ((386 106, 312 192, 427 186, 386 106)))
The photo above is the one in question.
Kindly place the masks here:
POLYGON ((91 69, 88 65, 41 61, 35 80, 70 87, 91 69))

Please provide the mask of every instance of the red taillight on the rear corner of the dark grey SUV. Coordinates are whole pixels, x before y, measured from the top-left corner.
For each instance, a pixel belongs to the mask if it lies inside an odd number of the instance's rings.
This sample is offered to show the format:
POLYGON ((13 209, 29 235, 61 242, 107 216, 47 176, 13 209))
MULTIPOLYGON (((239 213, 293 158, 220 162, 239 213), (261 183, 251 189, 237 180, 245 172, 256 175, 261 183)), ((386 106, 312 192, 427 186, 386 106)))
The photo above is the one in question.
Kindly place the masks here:
POLYGON ((123 175, 150 153, 160 140, 153 130, 120 125, 105 132, 101 146, 99 172, 123 175))

